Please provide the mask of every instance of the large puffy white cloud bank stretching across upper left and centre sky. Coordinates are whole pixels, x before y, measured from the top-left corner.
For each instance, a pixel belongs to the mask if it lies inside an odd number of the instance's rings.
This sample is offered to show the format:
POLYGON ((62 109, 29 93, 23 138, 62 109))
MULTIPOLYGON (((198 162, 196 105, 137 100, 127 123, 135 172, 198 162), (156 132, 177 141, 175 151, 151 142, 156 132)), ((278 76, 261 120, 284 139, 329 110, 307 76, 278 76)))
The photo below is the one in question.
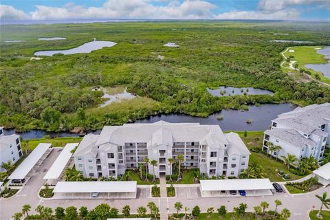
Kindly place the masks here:
POLYGON ((61 8, 36 5, 33 20, 45 19, 208 19, 215 5, 203 0, 170 1, 156 6, 148 0, 108 0, 102 7, 83 8, 67 4, 61 8))

